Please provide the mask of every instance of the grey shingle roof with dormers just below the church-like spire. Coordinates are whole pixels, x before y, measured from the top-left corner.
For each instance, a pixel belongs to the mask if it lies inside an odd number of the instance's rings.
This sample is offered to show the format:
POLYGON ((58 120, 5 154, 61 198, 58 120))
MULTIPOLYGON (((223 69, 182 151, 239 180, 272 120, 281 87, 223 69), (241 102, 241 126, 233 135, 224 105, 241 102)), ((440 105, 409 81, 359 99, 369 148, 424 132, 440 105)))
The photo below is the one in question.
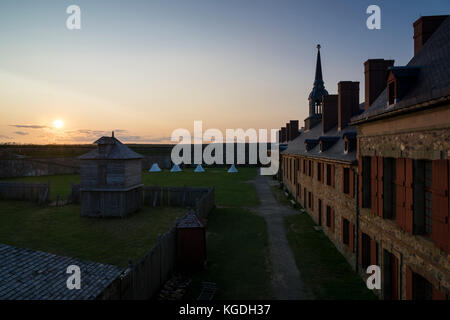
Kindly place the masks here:
POLYGON ((307 157, 314 158, 323 158, 329 160, 336 161, 344 161, 353 163, 356 161, 356 151, 350 151, 348 153, 344 153, 344 134, 349 132, 355 132, 356 129, 353 126, 347 126, 340 132, 338 131, 337 126, 328 130, 326 135, 322 135, 322 122, 319 122, 313 128, 308 131, 302 131, 300 136, 295 138, 292 141, 288 142, 288 147, 286 150, 282 151, 282 154, 295 154, 295 155, 303 155, 307 157), (325 137, 332 137, 331 139, 327 139, 325 137), (337 139, 337 138, 338 139, 337 139), (314 148, 311 148, 309 151, 305 149, 305 141, 306 140, 315 140, 315 139, 326 139, 326 140, 336 140, 336 142, 330 146, 328 149, 320 152, 319 144, 317 144, 314 148))

